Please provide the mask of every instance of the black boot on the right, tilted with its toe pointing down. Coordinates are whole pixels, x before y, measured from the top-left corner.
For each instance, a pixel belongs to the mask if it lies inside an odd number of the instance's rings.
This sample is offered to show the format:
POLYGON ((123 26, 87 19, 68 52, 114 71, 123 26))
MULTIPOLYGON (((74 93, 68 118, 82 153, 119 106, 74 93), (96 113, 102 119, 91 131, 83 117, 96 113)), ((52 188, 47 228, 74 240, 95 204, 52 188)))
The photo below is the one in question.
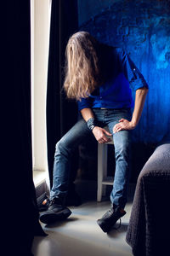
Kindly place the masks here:
POLYGON ((107 233, 114 227, 116 221, 126 213, 127 212, 125 212, 121 207, 112 206, 111 210, 105 212, 102 218, 97 220, 97 223, 99 224, 99 227, 107 233))

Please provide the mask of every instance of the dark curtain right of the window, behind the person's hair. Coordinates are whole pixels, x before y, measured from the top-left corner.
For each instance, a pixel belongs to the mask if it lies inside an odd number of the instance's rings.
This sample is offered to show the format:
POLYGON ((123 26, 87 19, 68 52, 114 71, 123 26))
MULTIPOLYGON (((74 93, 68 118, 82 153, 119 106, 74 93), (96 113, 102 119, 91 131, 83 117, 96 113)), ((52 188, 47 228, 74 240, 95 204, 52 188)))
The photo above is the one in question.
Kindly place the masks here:
MULTIPOLYGON (((74 32, 77 32, 77 0, 52 0, 47 90, 48 170, 51 186, 55 144, 77 121, 77 104, 68 101, 62 90, 65 46, 74 32)), ((75 152, 72 174, 77 170, 77 157, 78 152, 75 152)))

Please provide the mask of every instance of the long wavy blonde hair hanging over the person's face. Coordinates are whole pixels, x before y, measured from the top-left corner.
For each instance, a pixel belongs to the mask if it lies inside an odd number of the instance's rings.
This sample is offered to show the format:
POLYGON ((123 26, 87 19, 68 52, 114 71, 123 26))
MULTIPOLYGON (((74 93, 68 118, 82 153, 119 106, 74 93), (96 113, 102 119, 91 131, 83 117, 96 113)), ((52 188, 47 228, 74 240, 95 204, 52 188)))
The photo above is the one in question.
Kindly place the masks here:
POLYGON ((86 98, 100 85, 98 44, 88 32, 77 32, 69 39, 65 50, 64 82, 68 98, 86 98))

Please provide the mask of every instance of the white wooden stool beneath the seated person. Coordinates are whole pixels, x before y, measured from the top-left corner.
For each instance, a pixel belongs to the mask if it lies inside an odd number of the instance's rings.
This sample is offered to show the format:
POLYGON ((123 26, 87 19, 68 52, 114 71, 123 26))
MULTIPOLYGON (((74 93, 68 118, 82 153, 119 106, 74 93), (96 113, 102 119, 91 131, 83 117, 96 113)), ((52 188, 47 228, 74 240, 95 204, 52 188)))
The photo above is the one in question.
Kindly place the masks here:
MULTIPOLYGON (((108 127, 104 127, 108 130, 108 127)), ((102 195, 105 195, 106 185, 113 185, 114 177, 107 176, 107 147, 108 144, 114 144, 111 137, 110 143, 100 144, 98 143, 98 192, 97 201, 101 201, 102 195)))

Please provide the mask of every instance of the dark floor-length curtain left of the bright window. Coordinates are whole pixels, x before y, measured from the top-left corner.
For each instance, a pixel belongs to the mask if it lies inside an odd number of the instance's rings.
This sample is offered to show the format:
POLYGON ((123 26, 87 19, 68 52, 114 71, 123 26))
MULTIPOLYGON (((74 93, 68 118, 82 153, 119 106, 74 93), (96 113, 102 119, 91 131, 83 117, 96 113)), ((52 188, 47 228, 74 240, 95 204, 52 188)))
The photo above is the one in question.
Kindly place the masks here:
POLYGON ((32 179, 30 1, 7 1, 5 9, 1 146, 2 184, 5 185, 2 220, 7 232, 3 237, 7 238, 8 245, 2 251, 5 255, 27 256, 32 255, 34 236, 44 234, 38 221, 32 179))

